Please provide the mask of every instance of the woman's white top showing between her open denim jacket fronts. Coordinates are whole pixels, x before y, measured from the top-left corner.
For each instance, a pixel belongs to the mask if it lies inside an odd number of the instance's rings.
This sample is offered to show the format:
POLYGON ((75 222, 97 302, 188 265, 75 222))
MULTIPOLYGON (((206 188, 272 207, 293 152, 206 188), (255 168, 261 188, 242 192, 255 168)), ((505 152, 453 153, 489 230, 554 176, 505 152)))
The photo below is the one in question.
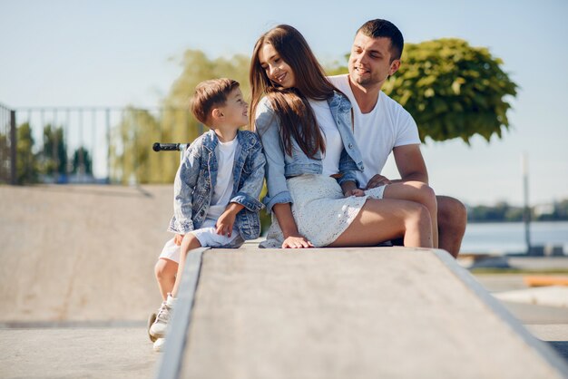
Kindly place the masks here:
POLYGON ((343 141, 339 134, 338 125, 333 120, 329 104, 325 100, 308 100, 311 109, 314 111, 319 129, 323 133, 326 141, 326 153, 323 156, 323 175, 333 175, 339 172, 339 158, 343 151, 343 141))

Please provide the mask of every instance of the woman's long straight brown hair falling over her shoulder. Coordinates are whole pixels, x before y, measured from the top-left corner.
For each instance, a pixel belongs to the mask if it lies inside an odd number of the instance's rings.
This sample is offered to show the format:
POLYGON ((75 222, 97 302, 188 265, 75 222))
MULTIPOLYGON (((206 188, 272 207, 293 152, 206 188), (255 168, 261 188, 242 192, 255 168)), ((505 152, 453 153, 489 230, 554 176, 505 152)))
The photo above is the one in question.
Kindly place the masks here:
POLYGON ((316 56, 298 30, 281 24, 260 36, 250 62, 250 87, 250 125, 254 125, 260 99, 267 96, 279 117, 280 135, 288 155, 292 155, 292 139, 309 158, 314 158, 318 151, 326 151, 325 140, 308 99, 327 100, 333 96, 335 87, 328 82, 316 56), (259 53, 265 44, 271 44, 292 69, 296 82, 293 88, 286 89, 271 82, 260 66, 259 53))

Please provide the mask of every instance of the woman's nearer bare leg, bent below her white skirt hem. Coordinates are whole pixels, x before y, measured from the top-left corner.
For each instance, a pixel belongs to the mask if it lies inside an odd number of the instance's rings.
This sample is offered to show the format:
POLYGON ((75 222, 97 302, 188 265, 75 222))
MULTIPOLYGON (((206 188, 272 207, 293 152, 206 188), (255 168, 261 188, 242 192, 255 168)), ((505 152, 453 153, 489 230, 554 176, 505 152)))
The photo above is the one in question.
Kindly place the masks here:
POLYGON ((374 246, 403 235, 406 247, 432 248, 428 209, 414 201, 367 199, 351 225, 328 246, 374 246))

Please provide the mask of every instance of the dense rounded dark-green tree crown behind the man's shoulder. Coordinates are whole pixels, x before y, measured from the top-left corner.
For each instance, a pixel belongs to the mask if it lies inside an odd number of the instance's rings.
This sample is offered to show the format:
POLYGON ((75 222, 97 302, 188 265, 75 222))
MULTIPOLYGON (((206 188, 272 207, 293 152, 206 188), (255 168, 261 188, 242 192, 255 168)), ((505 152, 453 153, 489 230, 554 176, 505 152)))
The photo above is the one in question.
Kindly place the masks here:
POLYGON ((475 134, 490 141, 509 127, 507 100, 517 85, 485 47, 456 38, 405 44, 401 60, 383 91, 412 114, 422 141, 469 143, 475 134))

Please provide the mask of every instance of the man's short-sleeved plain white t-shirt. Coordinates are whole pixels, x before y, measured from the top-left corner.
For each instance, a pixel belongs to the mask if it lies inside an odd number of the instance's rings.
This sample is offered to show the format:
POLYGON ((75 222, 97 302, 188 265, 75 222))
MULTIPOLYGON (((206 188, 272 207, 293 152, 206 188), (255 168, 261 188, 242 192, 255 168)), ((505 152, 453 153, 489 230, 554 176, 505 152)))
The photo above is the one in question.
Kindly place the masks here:
POLYGON ((351 91, 347 74, 329 76, 328 80, 347 95, 353 106, 355 141, 365 166, 365 172, 357 171, 357 180, 364 187, 368 180, 383 170, 393 148, 420 144, 416 122, 402 105, 382 91, 375 108, 363 113, 351 91))

